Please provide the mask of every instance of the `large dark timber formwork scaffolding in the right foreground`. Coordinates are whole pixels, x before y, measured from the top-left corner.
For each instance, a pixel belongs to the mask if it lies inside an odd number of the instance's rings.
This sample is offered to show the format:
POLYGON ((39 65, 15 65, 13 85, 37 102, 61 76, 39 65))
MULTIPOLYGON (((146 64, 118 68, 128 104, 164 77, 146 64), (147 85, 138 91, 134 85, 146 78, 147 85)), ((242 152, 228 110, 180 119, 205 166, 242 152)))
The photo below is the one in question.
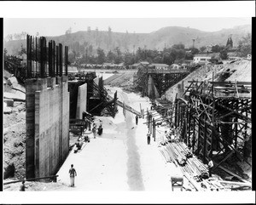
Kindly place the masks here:
POLYGON ((252 136, 251 83, 193 81, 183 98, 176 100, 175 125, 203 162, 220 154, 224 158, 218 165, 233 154, 246 161, 252 136))

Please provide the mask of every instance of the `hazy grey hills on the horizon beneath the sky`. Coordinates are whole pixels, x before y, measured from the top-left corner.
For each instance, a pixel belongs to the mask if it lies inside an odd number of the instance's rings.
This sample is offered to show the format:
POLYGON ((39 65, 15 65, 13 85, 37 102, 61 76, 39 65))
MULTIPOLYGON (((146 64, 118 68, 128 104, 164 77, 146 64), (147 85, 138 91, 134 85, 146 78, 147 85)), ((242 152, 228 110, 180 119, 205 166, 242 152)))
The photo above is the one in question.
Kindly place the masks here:
MULTIPOLYGON (((175 43, 183 43, 186 48, 192 46, 192 39, 195 39, 195 47, 200 48, 209 44, 226 44, 230 34, 234 46, 238 45, 241 37, 252 32, 251 25, 236 26, 221 31, 200 31, 189 27, 168 26, 150 33, 121 33, 108 31, 78 31, 58 37, 46 37, 48 40, 55 40, 56 43, 67 45, 70 50, 85 53, 87 48, 89 54, 96 54, 96 48, 108 50, 119 47, 121 51, 128 49, 130 52, 138 47, 149 49, 160 49, 171 47, 175 43)), ((26 40, 9 41, 4 44, 9 54, 15 54, 20 49, 21 43, 26 48, 26 40)))

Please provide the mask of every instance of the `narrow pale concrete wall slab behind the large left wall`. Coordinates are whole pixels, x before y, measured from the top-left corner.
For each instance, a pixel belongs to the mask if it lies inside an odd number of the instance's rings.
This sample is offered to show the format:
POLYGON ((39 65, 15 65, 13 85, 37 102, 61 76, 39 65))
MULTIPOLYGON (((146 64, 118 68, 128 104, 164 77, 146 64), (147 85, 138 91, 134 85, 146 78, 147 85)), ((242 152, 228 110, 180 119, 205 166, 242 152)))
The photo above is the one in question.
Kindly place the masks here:
POLYGON ((83 118, 83 111, 86 111, 87 105, 87 83, 79 86, 78 103, 76 119, 83 118))

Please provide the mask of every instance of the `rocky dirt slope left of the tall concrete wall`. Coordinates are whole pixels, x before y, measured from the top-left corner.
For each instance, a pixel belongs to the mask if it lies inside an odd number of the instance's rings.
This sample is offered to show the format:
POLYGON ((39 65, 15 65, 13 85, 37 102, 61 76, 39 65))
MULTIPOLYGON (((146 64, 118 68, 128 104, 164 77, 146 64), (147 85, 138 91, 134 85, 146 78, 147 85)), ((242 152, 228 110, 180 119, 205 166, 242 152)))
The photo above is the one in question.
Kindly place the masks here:
POLYGON ((22 179, 26 171, 25 88, 6 74, 3 91, 3 179, 22 179))

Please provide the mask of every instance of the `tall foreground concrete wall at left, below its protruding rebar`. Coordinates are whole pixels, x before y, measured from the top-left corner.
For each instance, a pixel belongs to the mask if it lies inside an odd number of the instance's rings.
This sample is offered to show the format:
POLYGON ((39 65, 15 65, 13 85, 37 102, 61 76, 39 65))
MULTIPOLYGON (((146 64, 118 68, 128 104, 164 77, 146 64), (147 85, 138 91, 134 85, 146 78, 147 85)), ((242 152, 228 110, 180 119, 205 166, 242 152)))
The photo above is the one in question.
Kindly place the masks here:
POLYGON ((55 174, 69 151, 67 77, 26 80, 26 178, 55 174))

